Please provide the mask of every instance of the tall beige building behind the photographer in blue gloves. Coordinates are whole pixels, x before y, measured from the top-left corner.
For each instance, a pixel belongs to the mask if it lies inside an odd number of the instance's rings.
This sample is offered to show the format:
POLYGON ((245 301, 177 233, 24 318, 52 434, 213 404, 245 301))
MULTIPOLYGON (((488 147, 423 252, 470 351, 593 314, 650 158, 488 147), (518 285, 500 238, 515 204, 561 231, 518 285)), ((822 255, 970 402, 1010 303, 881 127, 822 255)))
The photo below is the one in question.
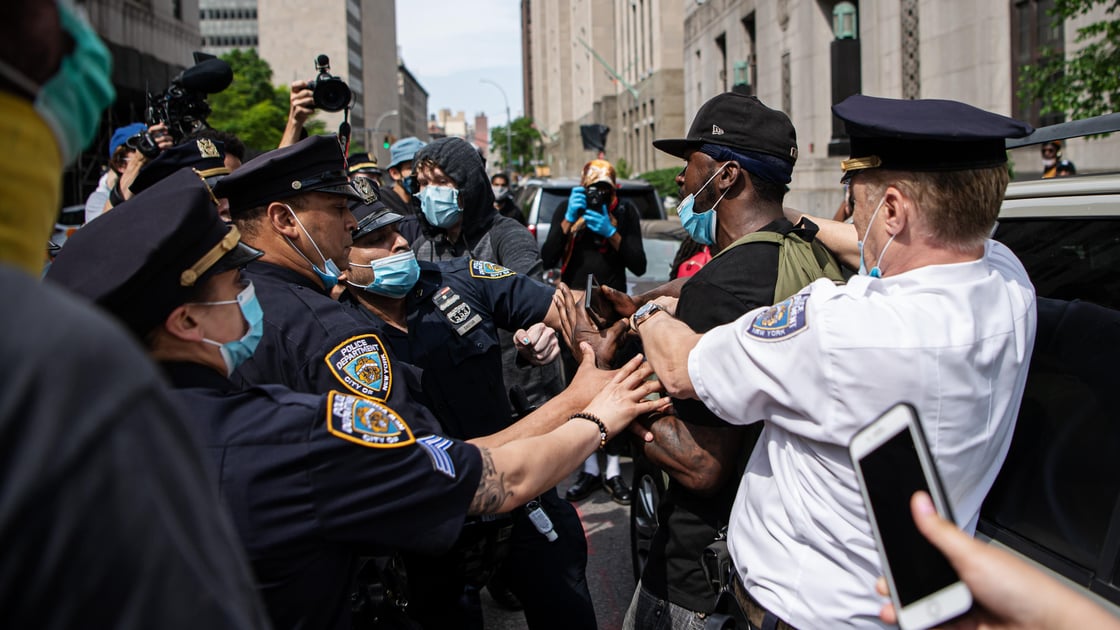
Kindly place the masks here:
POLYGON ((525 111, 553 175, 596 156, 581 124, 606 124, 606 157, 632 173, 673 158, 650 146, 683 131, 682 9, 670 0, 522 0, 525 111))

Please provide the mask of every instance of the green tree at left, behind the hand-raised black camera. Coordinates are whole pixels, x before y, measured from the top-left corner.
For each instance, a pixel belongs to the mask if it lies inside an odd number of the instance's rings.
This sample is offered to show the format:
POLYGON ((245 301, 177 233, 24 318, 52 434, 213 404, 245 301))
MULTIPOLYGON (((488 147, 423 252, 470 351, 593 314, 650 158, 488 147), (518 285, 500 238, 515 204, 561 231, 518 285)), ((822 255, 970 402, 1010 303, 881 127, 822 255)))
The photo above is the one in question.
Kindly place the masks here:
MULTIPOLYGON (((222 55, 233 68, 233 83, 211 94, 211 127, 241 138, 254 151, 268 151, 280 143, 288 122, 288 87, 272 85, 272 68, 255 49, 236 49, 222 55)), ((310 120, 308 133, 321 133, 323 121, 310 120)))

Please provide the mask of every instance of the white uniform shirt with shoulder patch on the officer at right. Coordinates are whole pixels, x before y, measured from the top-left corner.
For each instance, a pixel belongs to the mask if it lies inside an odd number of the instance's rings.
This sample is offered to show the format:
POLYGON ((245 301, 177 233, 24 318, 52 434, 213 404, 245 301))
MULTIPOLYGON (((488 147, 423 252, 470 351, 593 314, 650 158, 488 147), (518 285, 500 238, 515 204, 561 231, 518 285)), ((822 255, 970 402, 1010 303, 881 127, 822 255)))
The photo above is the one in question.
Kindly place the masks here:
POLYGON ((816 280, 703 335, 689 355, 700 400, 732 424, 766 420, 729 527, 750 594, 797 628, 881 627, 851 437, 912 402, 971 532, 1010 445, 1035 324, 1023 265, 989 241, 972 262, 816 280))

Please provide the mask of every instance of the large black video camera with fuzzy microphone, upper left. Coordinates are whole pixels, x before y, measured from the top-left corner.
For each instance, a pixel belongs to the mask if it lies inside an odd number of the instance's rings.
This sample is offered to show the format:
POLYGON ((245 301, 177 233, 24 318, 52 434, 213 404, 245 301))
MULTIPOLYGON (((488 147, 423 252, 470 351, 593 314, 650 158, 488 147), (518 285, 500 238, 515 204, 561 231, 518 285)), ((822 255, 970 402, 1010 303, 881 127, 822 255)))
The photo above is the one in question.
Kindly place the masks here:
MULTIPOLYGON (((148 111, 144 115, 148 126, 162 122, 175 143, 209 127, 206 117, 211 113, 211 106, 206 96, 217 94, 233 82, 233 68, 230 64, 205 53, 195 53, 194 56, 195 65, 172 78, 162 94, 148 93, 148 111)), ((147 131, 139 138, 130 139, 128 143, 149 159, 159 155, 159 145, 147 131)))

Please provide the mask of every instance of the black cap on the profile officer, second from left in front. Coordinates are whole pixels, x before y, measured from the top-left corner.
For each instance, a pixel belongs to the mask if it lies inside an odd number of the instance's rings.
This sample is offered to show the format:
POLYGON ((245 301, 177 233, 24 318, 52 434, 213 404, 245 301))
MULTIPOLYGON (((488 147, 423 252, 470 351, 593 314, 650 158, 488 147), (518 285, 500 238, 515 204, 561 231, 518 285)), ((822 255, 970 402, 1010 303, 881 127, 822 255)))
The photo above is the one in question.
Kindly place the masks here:
POLYGON ((273 149, 250 160, 235 173, 223 177, 214 194, 230 200, 230 214, 267 205, 301 193, 330 193, 364 203, 374 193, 368 180, 351 182, 346 158, 334 136, 310 136, 281 149, 273 149))

